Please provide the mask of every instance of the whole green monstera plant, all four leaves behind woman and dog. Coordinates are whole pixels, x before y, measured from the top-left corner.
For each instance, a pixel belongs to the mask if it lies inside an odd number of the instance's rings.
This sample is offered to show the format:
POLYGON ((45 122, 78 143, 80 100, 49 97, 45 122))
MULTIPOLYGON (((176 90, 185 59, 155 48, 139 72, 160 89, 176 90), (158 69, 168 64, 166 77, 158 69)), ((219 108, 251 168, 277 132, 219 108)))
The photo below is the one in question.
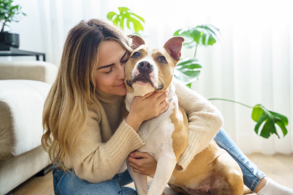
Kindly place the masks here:
MULTIPOLYGON (((130 11, 130 9, 125 7, 119 7, 118 9, 120 14, 109 12, 107 15, 107 18, 115 25, 120 26, 123 29, 126 23, 127 28, 134 30, 135 33, 138 33, 144 29, 142 25, 142 23, 144 23, 144 19, 141 16, 134 14, 132 11, 130 11), (131 27, 130 23, 132 23, 133 28, 131 27)), ((191 28, 177 30, 174 33, 174 36, 184 37, 185 42, 183 45, 187 48, 195 47, 195 53, 193 57, 181 59, 178 62, 174 70, 174 76, 190 87, 191 83, 197 80, 200 74, 200 69, 202 68, 202 65, 196 59, 197 47, 199 45, 213 45, 219 41, 219 35, 219 29, 213 25, 198 25, 191 28)), ((209 100, 224 100, 252 108, 251 117, 256 122, 254 128, 255 133, 264 138, 269 138, 272 134, 276 134, 278 138, 280 138, 276 131, 275 125, 278 125, 282 129, 284 136, 287 134, 287 117, 282 114, 269 111, 263 105, 257 104, 255 106, 248 106, 241 102, 223 98, 209 98, 209 100), (263 123, 264 125, 262 129, 259 131, 259 128, 263 123)))

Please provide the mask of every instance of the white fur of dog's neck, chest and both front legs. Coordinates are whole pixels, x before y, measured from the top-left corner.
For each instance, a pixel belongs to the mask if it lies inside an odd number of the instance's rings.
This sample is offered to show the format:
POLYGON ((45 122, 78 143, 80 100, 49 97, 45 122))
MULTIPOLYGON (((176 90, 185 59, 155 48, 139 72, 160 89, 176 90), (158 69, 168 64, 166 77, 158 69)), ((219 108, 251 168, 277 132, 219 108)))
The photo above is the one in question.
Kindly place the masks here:
MULTIPOLYGON (((147 191, 147 177, 139 173, 133 172, 132 167, 128 170, 134 180, 137 193, 141 194, 161 194, 164 187, 171 178, 172 172, 176 165, 176 155, 173 150, 172 134, 176 130, 173 124, 174 120, 182 120, 183 114, 179 112, 178 97, 175 95, 175 87, 173 84, 169 87, 169 108, 158 117, 144 121, 139 128, 145 145, 139 148, 139 151, 147 152, 152 155, 157 161, 156 173, 153 177, 153 182, 147 191), (173 117, 173 118, 172 118, 173 117), (174 119, 175 118, 175 119, 174 119)), ((133 94, 126 95, 126 108, 129 111, 130 104, 134 99, 133 94)), ((177 127, 178 128, 178 127, 177 127)))

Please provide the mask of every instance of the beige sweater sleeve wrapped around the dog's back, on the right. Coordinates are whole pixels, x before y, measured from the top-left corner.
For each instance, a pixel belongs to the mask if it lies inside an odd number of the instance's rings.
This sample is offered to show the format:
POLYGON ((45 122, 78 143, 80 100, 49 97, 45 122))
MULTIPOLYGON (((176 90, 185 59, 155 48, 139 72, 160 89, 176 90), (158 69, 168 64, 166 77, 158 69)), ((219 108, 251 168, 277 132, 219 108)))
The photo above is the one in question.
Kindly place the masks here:
POLYGON ((173 81, 179 105, 185 110, 189 123, 188 146, 176 166, 178 170, 185 170, 194 156, 204 150, 212 141, 223 124, 223 117, 206 98, 178 80, 173 79, 173 81))

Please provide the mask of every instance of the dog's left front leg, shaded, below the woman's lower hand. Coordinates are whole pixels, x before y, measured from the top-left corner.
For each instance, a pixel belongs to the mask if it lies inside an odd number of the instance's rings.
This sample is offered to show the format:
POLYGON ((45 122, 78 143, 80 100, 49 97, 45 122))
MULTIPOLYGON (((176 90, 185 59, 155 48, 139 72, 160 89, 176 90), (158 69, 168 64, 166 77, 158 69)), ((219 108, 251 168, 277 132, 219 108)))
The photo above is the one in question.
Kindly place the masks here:
POLYGON ((141 175, 133 171, 133 167, 129 165, 129 161, 126 161, 128 172, 134 182, 135 189, 138 195, 146 195, 147 194, 147 176, 141 175))

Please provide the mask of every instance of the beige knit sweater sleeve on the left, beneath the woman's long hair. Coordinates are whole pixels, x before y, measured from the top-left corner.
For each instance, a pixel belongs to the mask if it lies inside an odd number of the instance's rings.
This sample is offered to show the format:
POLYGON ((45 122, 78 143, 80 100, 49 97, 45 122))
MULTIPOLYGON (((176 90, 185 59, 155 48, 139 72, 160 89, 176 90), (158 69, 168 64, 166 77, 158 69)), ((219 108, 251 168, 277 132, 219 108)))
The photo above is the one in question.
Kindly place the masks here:
POLYGON ((100 183, 114 177, 127 156, 144 145, 140 132, 123 120, 113 136, 102 142, 99 113, 89 110, 88 121, 76 143, 69 150, 76 175, 91 183, 100 183))

